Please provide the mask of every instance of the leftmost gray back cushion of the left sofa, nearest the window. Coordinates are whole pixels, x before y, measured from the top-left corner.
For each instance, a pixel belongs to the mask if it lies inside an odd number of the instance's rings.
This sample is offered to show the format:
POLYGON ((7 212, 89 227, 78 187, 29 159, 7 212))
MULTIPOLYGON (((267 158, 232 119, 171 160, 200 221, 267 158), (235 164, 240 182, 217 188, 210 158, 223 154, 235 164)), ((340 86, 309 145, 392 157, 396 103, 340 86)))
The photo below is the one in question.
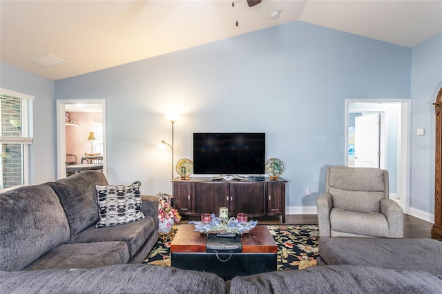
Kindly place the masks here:
POLYGON ((1 271, 20 271, 69 237, 59 198, 46 184, 0 194, 1 271))

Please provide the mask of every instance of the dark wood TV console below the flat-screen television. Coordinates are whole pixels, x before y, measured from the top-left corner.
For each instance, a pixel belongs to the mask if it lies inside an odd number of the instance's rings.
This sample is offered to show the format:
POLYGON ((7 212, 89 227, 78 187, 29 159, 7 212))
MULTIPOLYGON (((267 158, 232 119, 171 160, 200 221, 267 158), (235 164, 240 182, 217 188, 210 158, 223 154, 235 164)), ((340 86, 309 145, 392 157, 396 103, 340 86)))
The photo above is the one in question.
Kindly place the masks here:
POLYGON ((173 206, 180 215, 200 216, 229 208, 229 216, 247 213, 249 217, 281 215, 285 222, 285 184, 281 177, 262 182, 247 180, 217 180, 209 177, 173 179, 173 206))

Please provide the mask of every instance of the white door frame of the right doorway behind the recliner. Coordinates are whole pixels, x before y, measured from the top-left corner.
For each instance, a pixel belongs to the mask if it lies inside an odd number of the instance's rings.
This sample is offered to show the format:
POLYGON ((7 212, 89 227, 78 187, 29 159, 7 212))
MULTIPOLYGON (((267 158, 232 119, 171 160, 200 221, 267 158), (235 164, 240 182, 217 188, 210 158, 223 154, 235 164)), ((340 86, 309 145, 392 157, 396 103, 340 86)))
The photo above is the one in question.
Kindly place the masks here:
MULTIPOLYGON (((410 128, 411 99, 345 99, 345 166, 348 166, 348 117, 349 104, 401 104, 400 123, 398 124, 397 153, 397 193, 400 193, 399 205, 404 213, 410 213, 410 128)), ((382 110, 379 110, 381 112, 382 110)), ((386 120, 386 119, 384 119, 386 120)))

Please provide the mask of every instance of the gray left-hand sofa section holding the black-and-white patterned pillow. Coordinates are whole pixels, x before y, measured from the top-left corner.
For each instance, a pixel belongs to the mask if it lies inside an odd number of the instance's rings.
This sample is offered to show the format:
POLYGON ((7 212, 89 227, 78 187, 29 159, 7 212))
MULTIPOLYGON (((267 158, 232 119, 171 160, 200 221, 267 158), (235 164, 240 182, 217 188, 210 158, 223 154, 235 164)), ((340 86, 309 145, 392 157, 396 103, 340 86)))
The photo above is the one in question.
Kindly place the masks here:
POLYGON ((95 228, 95 185, 107 184, 90 170, 0 194, 0 270, 141 263, 158 239, 157 197, 142 196, 144 219, 95 228))

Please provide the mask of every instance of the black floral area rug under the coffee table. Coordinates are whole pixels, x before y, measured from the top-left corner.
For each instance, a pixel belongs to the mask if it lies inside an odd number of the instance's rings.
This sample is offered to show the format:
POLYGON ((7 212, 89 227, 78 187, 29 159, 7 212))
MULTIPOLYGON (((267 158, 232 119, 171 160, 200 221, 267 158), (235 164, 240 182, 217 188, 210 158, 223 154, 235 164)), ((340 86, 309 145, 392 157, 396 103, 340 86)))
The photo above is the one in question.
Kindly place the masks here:
MULTIPOLYGON (((171 266, 171 241, 179 225, 171 233, 160 235, 145 264, 171 266)), ((268 225, 278 244, 278 271, 288 271, 316 266, 318 256, 319 229, 312 225, 275 224, 268 225)))

